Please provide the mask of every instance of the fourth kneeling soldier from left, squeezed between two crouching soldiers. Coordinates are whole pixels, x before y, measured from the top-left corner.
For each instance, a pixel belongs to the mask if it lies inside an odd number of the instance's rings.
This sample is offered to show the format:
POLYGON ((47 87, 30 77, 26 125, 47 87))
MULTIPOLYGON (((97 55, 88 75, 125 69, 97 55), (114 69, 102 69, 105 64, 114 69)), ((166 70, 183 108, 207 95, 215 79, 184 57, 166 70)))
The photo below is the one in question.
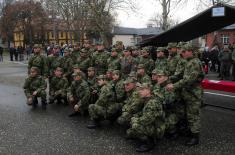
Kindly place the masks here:
POLYGON ((94 67, 88 68, 87 83, 90 90, 90 101, 89 104, 94 104, 98 99, 98 86, 96 84, 96 73, 94 67))

